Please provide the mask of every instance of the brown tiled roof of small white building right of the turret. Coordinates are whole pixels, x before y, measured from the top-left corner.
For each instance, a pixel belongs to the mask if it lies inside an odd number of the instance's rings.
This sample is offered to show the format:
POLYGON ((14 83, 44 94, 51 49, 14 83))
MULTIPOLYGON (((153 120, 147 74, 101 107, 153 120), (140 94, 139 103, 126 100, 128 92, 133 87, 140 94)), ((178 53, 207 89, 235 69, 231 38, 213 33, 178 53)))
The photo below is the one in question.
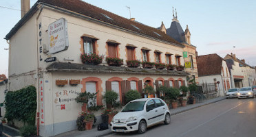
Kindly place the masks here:
POLYGON ((223 58, 216 53, 197 57, 198 76, 221 75, 223 58))

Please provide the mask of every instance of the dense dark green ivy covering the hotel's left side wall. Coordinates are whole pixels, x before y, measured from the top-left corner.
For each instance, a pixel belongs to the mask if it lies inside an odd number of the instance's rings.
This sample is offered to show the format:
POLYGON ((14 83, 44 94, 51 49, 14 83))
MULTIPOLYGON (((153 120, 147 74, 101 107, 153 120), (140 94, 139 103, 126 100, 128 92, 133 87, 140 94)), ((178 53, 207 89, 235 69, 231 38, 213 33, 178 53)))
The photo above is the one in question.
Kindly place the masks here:
POLYGON ((26 86, 21 90, 9 91, 6 94, 6 119, 17 119, 29 125, 35 124, 36 117, 36 88, 26 86))

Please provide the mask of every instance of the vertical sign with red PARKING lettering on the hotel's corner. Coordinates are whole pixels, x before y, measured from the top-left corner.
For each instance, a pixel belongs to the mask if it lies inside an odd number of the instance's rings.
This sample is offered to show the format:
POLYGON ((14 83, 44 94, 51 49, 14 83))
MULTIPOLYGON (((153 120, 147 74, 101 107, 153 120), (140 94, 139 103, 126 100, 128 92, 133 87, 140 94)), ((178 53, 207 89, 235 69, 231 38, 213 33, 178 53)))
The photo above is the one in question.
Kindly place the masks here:
POLYGON ((39 79, 39 93, 40 93, 40 119, 41 119, 41 124, 45 123, 45 104, 44 104, 44 94, 45 92, 43 91, 43 79, 39 79))

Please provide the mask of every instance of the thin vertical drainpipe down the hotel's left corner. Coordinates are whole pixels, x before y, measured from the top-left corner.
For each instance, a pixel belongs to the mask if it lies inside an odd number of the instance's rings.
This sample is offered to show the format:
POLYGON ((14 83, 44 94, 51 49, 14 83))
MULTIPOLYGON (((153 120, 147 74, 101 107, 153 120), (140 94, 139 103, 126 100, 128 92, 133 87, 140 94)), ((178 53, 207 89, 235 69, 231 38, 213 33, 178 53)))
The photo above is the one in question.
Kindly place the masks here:
MULTIPOLYGON (((40 3, 39 3, 40 4, 40 3)), ((37 102, 37 109, 36 109, 36 135, 39 136, 39 121, 40 121, 40 115, 39 115, 39 101, 40 101, 40 97, 39 97, 39 32, 38 32, 38 19, 39 16, 41 14, 43 10, 43 5, 41 5, 41 7, 39 8, 39 13, 36 15, 36 88, 37 88, 37 92, 36 92, 36 102, 37 102)))

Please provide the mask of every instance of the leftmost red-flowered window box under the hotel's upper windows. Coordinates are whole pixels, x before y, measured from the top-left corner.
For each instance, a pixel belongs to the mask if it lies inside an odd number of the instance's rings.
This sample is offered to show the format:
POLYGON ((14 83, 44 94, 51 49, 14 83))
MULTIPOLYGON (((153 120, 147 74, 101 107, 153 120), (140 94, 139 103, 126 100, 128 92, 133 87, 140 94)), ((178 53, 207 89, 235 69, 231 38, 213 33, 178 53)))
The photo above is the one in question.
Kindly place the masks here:
POLYGON ((84 64, 100 64, 103 62, 104 55, 97 55, 96 53, 81 54, 81 60, 84 64))

